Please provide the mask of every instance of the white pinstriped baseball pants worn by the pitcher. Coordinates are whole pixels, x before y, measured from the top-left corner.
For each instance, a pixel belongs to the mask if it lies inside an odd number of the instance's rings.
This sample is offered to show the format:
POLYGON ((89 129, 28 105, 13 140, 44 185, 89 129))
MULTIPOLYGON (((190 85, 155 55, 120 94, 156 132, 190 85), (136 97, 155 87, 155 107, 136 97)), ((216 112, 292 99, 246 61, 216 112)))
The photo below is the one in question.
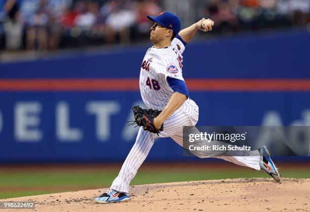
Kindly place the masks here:
MULTIPOLYGON (((147 157, 149 150, 153 146, 154 139, 159 137, 171 137, 175 142, 182 146, 183 126, 195 126, 198 121, 198 106, 189 107, 193 108, 190 108, 189 110, 188 108, 179 108, 176 110, 171 117, 164 122, 164 131, 161 132, 160 136, 144 131, 142 127, 139 129, 136 142, 130 150, 118 177, 113 181, 111 189, 124 193, 129 192, 129 184, 147 157)), ((248 152, 246 155, 249 155, 248 152)), ((256 153, 257 154, 254 154, 254 156, 216 156, 216 158, 221 158, 238 165, 260 170, 259 152, 257 151, 256 153)), ((202 154, 199 154, 199 152, 195 155, 201 158, 206 157, 201 156, 202 154)))

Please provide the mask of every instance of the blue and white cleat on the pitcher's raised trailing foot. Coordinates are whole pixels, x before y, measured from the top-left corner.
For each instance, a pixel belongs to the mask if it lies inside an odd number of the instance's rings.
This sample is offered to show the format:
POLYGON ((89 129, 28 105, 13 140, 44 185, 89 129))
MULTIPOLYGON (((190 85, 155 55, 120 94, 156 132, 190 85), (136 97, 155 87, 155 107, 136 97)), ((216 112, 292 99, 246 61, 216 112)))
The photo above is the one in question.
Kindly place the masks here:
POLYGON ((264 171, 272 176, 275 181, 280 182, 280 173, 270 157, 269 151, 267 150, 266 146, 262 146, 259 150, 259 166, 264 169, 264 171))

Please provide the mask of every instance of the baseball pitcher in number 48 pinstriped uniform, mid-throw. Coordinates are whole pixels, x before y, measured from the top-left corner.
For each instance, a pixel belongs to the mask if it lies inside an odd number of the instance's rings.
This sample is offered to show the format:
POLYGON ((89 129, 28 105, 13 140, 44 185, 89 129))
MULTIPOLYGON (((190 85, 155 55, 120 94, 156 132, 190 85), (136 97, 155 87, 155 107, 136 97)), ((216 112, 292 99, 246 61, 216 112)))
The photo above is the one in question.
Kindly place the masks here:
MULTIPOLYGON (((153 46, 143 58, 139 79, 140 94, 147 109, 133 108, 135 123, 141 126, 136 142, 110 189, 95 198, 99 203, 129 200, 129 184, 147 157, 154 139, 170 137, 182 146, 183 126, 195 126, 198 121, 199 108, 190 98, 182 76, 182 54, 195 33, 198 30, 211 31, 214 22, 203 18, 181 30, 181 21, 174 13, 162 12, 157 17, 147 18, 154 22, 150 28, 153 46)), ((247 155, 217 157, 256 170, 262 168, 280 181, 277 167, 264 146, 247 155)))

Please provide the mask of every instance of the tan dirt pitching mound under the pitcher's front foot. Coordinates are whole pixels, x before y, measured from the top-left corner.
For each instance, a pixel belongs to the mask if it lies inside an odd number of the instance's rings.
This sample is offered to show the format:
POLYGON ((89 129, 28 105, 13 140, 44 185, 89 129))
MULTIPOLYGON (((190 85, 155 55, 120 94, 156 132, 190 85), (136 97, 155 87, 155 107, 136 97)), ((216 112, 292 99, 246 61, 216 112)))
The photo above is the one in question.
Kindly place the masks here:
POLYGON ((310 210, 310 179, 282 179, 281 183, 276 183, 272 179, 251 178, 139 185, 131 186, 131 199, 127 202, 95 203, 93 198, 105 190, 73 191, 1 201, 34 201, 37 211, 310 210))

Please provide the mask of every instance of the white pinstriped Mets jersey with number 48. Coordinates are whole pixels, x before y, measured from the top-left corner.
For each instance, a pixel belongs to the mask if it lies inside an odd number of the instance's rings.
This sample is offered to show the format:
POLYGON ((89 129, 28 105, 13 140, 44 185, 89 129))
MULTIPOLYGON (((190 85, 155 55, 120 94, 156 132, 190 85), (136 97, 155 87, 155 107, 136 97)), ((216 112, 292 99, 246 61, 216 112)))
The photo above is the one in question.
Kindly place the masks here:
MULTIPOLYGON (((174 38, 171 46, 163 49, 149 48, 140 69, 140 94, 146 107, 163 110, 174 93, 167 82, 167 76, 183 80, 182 53, 185 46, 174 38)), ((181 106, 196 105, 188 98, 181 106)))

